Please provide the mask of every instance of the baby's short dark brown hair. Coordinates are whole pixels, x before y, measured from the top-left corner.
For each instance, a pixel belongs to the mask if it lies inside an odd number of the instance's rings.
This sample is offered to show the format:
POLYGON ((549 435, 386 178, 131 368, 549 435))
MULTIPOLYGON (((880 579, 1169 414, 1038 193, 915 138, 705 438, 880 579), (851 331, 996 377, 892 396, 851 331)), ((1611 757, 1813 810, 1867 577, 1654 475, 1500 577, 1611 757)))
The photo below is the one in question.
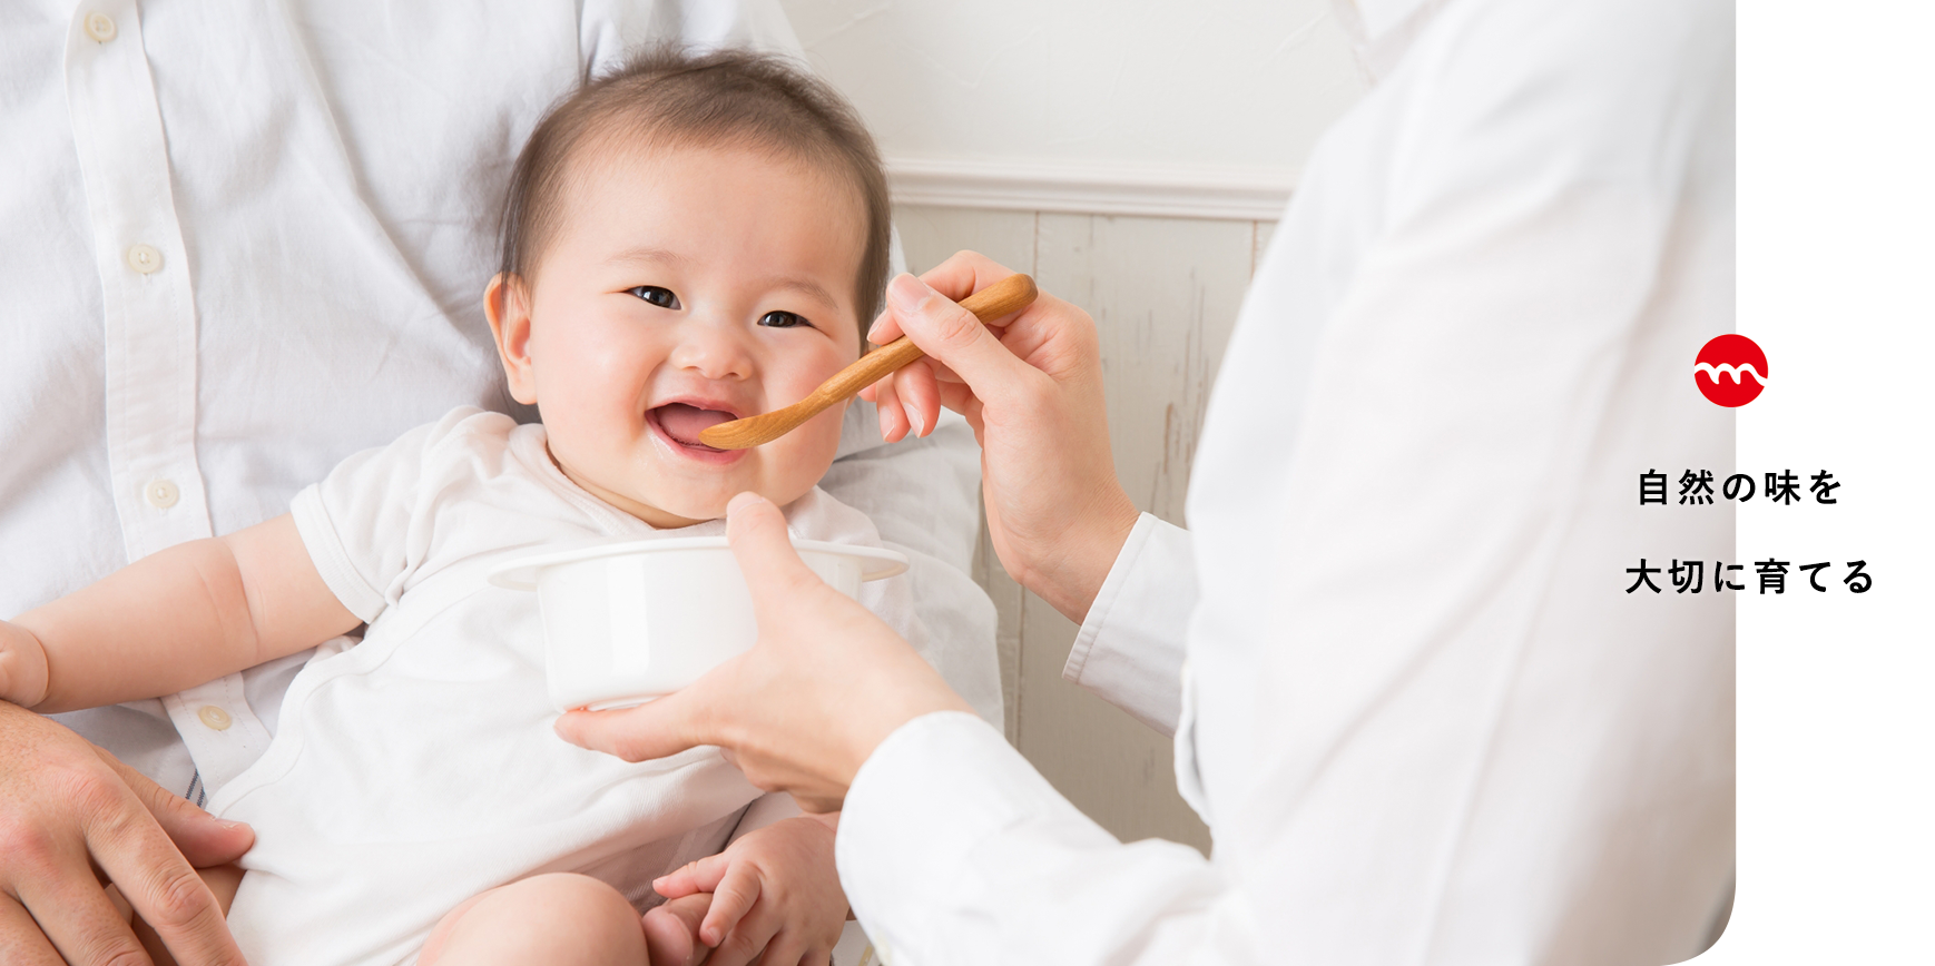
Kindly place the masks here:
POLYGON ((853 281, 861 329, 880 312, 892 230, 880 151, 853 105, 826 81, 753 50, 652 46, 551 105, 511 170, 501 223, 505 275, 530 279, 557 230, 571 157, 610 137, 749 147, 840 174, 867 207, 867 248, 853 281))

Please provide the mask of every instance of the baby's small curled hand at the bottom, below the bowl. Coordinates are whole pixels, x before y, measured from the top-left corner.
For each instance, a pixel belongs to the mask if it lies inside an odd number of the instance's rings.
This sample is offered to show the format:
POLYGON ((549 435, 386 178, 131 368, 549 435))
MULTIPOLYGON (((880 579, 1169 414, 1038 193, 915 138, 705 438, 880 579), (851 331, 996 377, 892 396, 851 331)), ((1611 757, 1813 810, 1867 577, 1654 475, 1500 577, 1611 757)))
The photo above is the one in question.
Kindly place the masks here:
POLYGON ((714 947, 706 966, 745 966, 755 956, 760 966, 824 966, 848 914, 834 869, 834 830, 817 817, 772 823, 660 877, 652 889, 670 900, 644 916, 654 966, 664 952, 671 952, 664 958, 673 966, 685 966, 673 951, 683 945, 677 939, 714 947), (700 918, 706 892, 710 908, 700 918))

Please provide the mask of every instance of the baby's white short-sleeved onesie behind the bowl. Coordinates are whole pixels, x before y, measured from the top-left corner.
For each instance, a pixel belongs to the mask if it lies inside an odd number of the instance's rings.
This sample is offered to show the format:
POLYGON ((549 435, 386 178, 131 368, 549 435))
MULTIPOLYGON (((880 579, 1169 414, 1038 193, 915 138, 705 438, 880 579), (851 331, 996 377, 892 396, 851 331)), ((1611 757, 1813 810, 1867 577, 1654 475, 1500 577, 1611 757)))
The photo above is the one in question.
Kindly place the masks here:
MULTIPOLYGON (((486 889, 582 871, 646 902, 650 879, 718 852, 760 796, 718 749, 629 765, 551 734, 536 594, 490 587, 497 561, 654 530, 551 463, 542 426, 459 408, 358 453, 296 496, 302 542, 368 621, 288 687, 261 759, 209 798, 255 848, 228 925, 253 966, 393 964, 486 889)), ((878 546, 820 490, 786 507, 795 536, 878 546)), ((935 660, 906 579, 861 602, 935 660)))

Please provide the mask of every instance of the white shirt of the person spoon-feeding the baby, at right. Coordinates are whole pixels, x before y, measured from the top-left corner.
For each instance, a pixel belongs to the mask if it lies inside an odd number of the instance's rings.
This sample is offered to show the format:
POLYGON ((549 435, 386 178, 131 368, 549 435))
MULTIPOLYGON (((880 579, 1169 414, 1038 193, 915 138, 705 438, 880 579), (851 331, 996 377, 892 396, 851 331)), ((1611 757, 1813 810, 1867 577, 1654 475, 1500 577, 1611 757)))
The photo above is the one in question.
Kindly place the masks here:
POLYGON ((1343 15, 1380 79, 1256 273, 1190 530, 1142 519, 1064 672, 1175 730, 1215 852, 917 718, 838 840, 892 966, 1682 966, 1726 898, 1734 598, 1664 571, 1734 513, 1639 476, 1734 465, 1691 374, 1736 323, 1734 8, 1343 15))

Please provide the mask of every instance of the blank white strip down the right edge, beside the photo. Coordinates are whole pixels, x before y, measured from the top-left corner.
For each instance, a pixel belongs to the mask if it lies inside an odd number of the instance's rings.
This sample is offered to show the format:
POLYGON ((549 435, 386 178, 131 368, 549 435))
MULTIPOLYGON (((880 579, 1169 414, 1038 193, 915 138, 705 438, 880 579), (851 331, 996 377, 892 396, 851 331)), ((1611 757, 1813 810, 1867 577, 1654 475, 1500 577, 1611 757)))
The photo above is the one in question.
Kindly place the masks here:
POLYGON ((1742 467, 1873 468, 1875 587, 1742 598, 1742 962, 1935 960, 1935 8, 1740 6, 1742 467))

